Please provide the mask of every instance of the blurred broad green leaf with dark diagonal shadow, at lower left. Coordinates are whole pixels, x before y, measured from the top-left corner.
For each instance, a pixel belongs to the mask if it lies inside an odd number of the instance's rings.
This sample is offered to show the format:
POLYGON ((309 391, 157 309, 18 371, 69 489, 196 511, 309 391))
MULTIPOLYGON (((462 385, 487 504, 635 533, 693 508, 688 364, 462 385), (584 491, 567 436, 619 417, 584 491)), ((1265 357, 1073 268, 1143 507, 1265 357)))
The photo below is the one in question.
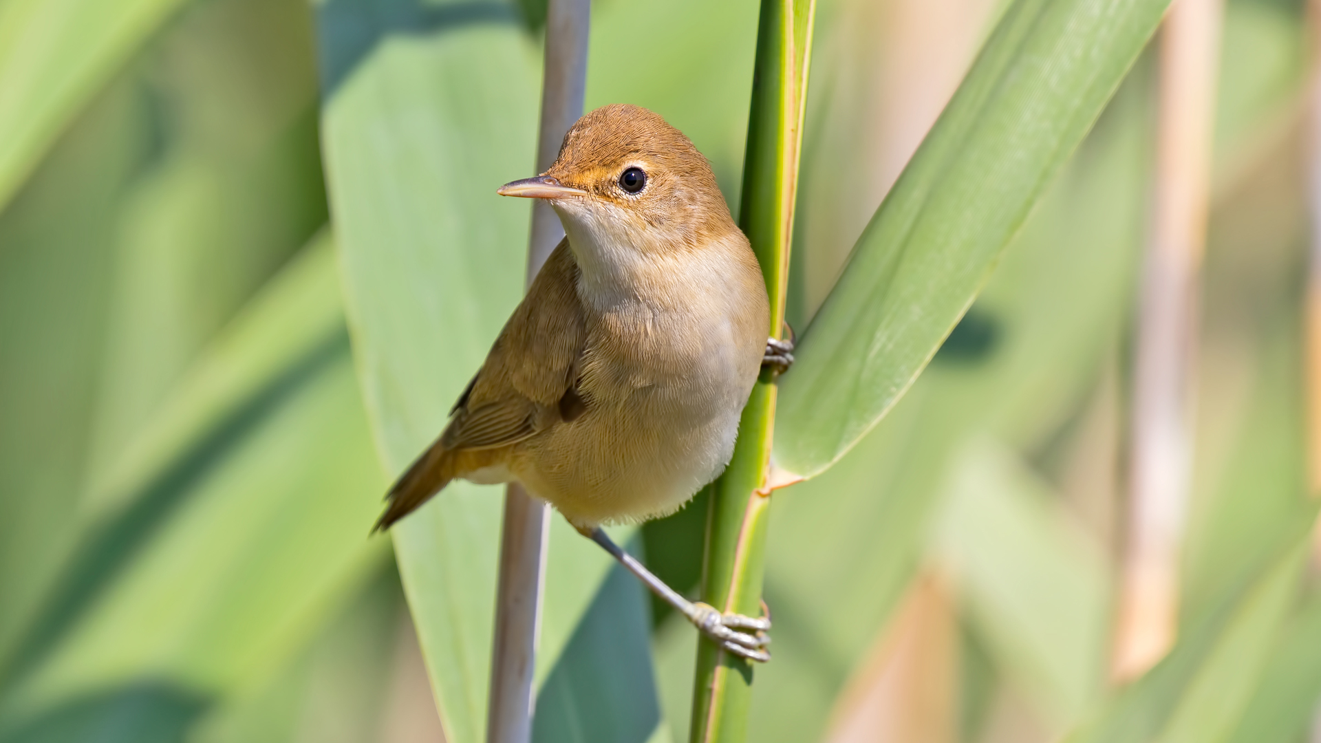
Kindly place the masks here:
MULTIPOLYGON (((338 324, 326 332, 336 286, 322 241, 203 356, 196 379, 243 381, 252 366, 269 375, 225 414, 166 416, 196 443, 87 530, 22 645, 5 723, 40 730, 83 699, 135 689, 180 702, 161 714, 223 697, 273 672, 379 565, 384 542, 362 524, 384 480, 347 338, 338 324), (271 364, 280 346, 283 364, 271 364)), ((205 411, 215 386, 181 390, 203 399, 168 410, 205 411)))

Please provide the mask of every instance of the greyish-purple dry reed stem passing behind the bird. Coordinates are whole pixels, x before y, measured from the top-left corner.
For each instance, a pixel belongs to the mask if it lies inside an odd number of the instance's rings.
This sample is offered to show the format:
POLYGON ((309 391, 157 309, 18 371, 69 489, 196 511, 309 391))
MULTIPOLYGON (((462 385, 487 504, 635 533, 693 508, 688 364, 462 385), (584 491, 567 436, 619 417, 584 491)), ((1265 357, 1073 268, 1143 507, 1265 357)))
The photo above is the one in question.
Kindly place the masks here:
MULTIPOLYGON (((546 15, 546 71, 536 172, 555 161, 564 132, 583 115, 590 0, 550 0, 546 15)), ((564 237, 555 212, 532 200, 527 286, 564 237)), ((486 714, 489 743, 527 743, 532 736, 532 676, 546 582, 548 506, 518 484, 505 490, 495 633, 486 714)))

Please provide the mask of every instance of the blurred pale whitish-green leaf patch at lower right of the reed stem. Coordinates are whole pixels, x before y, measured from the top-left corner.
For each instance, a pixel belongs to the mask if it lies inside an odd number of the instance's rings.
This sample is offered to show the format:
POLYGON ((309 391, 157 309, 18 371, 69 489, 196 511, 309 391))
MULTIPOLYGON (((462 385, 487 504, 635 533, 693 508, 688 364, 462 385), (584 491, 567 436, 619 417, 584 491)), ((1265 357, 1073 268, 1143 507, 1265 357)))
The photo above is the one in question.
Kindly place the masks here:
POLYGON ((950 476, 935 557, 997 666, 1063 727, 1104 677, 1111 615, 1100 547, 1052 510, 1054 493, 1003 447, 971 443, 950 476))

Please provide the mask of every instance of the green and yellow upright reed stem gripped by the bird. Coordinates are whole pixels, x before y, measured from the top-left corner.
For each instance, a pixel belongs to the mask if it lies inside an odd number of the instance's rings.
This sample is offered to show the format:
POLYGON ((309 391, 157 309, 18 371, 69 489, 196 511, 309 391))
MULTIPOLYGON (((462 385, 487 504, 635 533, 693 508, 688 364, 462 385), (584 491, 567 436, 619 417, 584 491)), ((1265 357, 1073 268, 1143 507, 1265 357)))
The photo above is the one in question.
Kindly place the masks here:
MULTIPOLYGON (((761 262, 771 308, 766 331, 774 337, 781 337, 785 317, 814 11, 815 0, 762 0, 757 30, 738 225, 761 262)), ((707 517, 703 602, 727 613, 761 612, 774 420, 775 381, 764 372, 744 407, 733 460, 712 484, 707 517)), ((694 742, 746 738, 752 678, 748 661, 709 640, 699 643, 694 742)))

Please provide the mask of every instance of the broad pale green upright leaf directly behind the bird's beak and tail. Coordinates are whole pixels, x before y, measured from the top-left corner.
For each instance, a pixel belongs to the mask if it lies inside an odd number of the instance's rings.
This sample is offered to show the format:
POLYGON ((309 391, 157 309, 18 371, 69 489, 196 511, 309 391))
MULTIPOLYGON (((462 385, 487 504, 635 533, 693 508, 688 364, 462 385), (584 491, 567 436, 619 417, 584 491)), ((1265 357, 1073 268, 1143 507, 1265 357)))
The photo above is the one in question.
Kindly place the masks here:
MULTIPOLYGON (((510 4, 354 0, 317 13, 350 329, 378 448, 398 473, 444 427, 522 293, 527 204, 494 192, 532 167, 539 53, 510 4)), ((394 530, 452 743, 483 738, 499 506, 498 488, 454 483, 394 530)), ((577 684, 557 664, 601 652, 571 643, 589 607, 605 600, 616 621, 645 617, 630 608, 641 599, 602 592, 609 570, 605 553, 552 520, 536 672, 546 685, 577 684)), ((645 646, 646 636, 596 637, 609 649, 620 637, 645 646)), ((655 709, 649 662, 594 668, 655 709)), ((539 728, 544 740, 571 734, 539 728)))

